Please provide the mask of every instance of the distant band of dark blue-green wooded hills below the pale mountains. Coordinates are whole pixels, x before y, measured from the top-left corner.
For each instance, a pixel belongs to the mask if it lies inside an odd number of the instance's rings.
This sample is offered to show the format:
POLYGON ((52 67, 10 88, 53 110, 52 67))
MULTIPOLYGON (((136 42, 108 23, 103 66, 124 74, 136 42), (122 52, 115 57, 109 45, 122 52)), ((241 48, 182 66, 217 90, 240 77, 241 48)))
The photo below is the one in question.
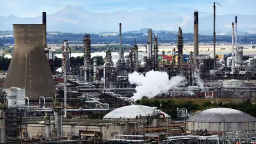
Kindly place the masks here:
MULTIPOLYGON (((68 39, 70 44, 82 44, 84 34, 72 34, 72 33, 58 33, 57 35, 47 35, 48 44, 62 44, 64 39, 68 39)), ((177 42, 177 33, 171 33, 169 31, 162 31, 157 33, 159 43, 171 43, 177 42)), ((134 38, 136 38, 137 43, 147 43, 147 35, 144 33, 123 33, 122 34, 122 43, 123 44, 134 44, 134 38)), ((255 42, 255 35, 245 35, 237 36, 240 42, 250 43, 255 42)), ((184 42, 194 42, 194 34, 184 33, 183 34, 184 42)), ((217 42, 231 42, 230 35, 218 35, 216 37, 217 42)), ((213 42, 212 35, 199 35, 199 42, 213 42)), ((0 38, 0 46, 4 43, 14 43, 14 37, 3 37, 0 38)), ((98 35, 91 34, 91 43, 92 44, 118 44, 119 35, 98 35)))

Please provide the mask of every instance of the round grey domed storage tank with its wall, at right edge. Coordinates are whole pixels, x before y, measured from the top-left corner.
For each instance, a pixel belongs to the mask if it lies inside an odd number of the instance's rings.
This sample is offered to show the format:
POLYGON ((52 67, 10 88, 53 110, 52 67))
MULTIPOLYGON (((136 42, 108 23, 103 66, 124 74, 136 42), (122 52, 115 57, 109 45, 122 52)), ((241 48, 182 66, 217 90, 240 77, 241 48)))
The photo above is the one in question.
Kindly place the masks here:
POLYGON ((189 131, 210 132, 255 131, 256 118, 242 111, 230 108, 212 108, 191 116, 186 121, 189 131))

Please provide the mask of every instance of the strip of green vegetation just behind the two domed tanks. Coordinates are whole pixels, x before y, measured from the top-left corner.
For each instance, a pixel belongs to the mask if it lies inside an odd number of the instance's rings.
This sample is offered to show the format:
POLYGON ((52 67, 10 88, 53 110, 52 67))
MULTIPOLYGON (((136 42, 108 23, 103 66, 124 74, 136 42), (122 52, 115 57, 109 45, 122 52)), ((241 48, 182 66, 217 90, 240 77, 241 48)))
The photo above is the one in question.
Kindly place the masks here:
MULTIPOLYGON (((154 99, 155 100, 155 99, 154 99)), ((175 103, 183 103, 183 102, 187 102, 187 101, 192 101, 193 103, 196 103, 198 105, 202 105, 204 102, 216 102, 216 103, 219 103, 220 101, 222 101, 222 103, 228 103, 228 102, 242 102, 243 100, 241 99, 204 99, 204 98, 193 98, 193 99, 186 99, 186 98, 168 98, 168 99, 159 99, 158 100, 172 100, 174 101, 175 103)))

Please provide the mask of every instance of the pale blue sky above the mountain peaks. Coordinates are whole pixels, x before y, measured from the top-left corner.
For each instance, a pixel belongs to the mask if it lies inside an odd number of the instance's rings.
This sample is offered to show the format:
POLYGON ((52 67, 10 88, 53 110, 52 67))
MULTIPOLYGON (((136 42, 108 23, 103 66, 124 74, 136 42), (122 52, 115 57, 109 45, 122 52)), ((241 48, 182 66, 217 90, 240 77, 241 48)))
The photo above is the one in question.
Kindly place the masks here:
POLYGON ((217 6, 217 14, 255 14, 255 0, 0 0, 0 15, 36 17, 43 11, 53 14, 67 5, 81 6, 92 13, 144 10, 149 7, 166 12, 182 7, 212 12, 213 2, 223 5, 217 6))

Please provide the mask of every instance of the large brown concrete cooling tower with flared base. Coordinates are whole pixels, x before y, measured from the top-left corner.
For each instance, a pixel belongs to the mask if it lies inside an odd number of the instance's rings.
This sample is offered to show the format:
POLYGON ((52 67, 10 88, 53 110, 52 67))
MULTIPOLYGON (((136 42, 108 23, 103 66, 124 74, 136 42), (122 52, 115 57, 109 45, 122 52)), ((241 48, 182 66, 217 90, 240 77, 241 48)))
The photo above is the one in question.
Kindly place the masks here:
POLYGON ((14 50, 5 88, 25 89, 26 97, 53 97, 55 83, 44 52, 44 25, 13 25, 14 50))

